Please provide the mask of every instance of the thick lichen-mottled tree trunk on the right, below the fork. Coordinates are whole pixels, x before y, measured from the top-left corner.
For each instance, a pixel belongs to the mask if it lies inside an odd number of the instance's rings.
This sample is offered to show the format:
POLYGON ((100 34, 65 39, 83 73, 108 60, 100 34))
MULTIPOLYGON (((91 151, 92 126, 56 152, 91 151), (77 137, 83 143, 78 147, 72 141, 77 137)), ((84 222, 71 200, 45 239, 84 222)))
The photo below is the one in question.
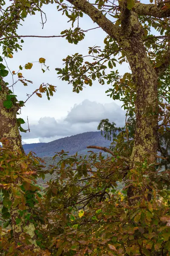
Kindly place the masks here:
MULTIPOLYGON (((156 161, 158 147, 158 76, 147 57, 140 33, 134 33, 128 40, 123 40, 122 48, 125 50, 136 86, 136 131, 130 157, 130 169, 133 169, 145 159, 148 164, 156 161)), ((138 192, 130 186, 127 196, 131 198, 136 193, 138 192)), ((147 200, 150 200, 150 198, 151 195, 149 194, 147 200)), ((129 204, 135 204, 137 200, 139 198, 129 200, 129 204)))

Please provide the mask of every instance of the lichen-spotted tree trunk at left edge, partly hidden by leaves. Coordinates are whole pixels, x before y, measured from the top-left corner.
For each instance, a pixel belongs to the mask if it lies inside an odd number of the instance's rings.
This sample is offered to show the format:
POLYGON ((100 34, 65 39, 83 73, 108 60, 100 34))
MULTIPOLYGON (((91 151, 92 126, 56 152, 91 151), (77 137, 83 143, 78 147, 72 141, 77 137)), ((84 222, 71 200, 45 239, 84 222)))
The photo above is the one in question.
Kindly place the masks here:
MULTIPOLYGON (((6 96, 8 95, 8 88, 6 87, 5 82, 1 78, 0 81, 0 139, 6 139, 9 142, 9 145, 11 147, 11 150, 14 151, 16 154, 25 154, 23 150, 23 146, 21 143, 21 136, 20 132, 17 126, 17 105, 13 105, 11 108, 6 109, 4 107, 4 101, 6 101, 6 96)), ((20 164, 20 163, 18 163, 20 164)), ((21 181, 19 178, 16 179, 13 186, 21 185, 21 181)), ((35 227, 33 223, 26 223, 24 218, 21 218, 21 222, 18 225, 16 223, 16 219, 20 219, 19 210, 17 207, 13 207, 14 203, 14 196, 12 192, 9 192, 9 198, 12 202, 11 208, 10 208, 10 214, 11 214, 11 226, 14 236, 14 242, 15 245, 18 246, 19 244, 22 244, 20 247, 21 250, 31 249, 34 250, 34 248, 37 248, 36 244, 36 236, 35 236, 35 227), (28 246, 27 244, 21 243, 21 237, 22 234, 25 233, 31 237, 31 244, 28 246), (24 249, 25 248, 25 249, 24 249)), ((27 207, 27 213, 31 212, 31 208, 27 207)))

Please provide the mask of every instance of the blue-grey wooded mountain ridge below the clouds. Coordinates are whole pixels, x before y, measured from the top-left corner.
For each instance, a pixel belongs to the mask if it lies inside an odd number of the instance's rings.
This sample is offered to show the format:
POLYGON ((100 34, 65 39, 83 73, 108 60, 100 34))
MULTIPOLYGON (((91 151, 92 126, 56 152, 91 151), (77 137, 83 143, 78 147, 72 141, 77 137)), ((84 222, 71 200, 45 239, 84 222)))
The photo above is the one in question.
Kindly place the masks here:
POLYGON ((102 137, 100 131, 90 131, 54 140, 49 143, 25 144, 23 148, 26 154, 33 151, 38 157, 52 157, 54 156, 54 152, 59 152, 62 149, 69 151, 69 154, 75 154, 76 152, 86 154, 89 150, 86 147, 89 145, 109 147, 110 144, 111 142, 109 140, 102 137))

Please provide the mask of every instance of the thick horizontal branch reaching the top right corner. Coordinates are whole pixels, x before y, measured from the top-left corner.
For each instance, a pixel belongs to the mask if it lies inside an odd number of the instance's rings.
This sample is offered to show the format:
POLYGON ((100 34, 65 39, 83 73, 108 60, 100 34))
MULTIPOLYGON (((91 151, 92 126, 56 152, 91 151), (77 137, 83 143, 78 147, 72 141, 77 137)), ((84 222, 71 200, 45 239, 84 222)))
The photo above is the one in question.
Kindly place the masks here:
POLYGON ((162 5, 157 6, 155 4, 144 4, 137 2, 133 7, 133 11, 138 15, 149 15, 158 18, 170 17, 170 9, 162 10, 162 5))

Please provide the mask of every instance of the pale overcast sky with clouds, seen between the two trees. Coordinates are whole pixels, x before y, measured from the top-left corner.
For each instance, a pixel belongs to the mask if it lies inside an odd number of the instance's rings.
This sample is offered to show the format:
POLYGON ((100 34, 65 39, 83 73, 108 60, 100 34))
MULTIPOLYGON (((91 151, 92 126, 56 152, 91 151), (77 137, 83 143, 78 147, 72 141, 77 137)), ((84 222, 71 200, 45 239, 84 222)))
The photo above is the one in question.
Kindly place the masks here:
MULTIPOLYGON (((40 24, 40 14, 37 13, 26 18, 18 34, 59 35, 62 30, 70 28, 67 17, 57 12, 55 5, 44 6, 43 11, 47 15, 44 29, 40 24)), ((79 26, 82 29, 90 29, 96 27, 96 24, 84 15, 79 20, 79 26)), ((24 87, 18 82, 14 87, 18 99, 25 101, 26 94, 31 94, 42 82, 57 86, 57 92, 50 101, 45 95, 41 99, 32 96, 22 109, 21 117, 26 120, 28 116, 31 129, 30 133, 22 133, 24 143, 49 142, 85 131, 96 131, 99 121, 103 118, 109 118, 117 125, 124 125, 125 112, 121 109, 121 102, 113 102, 106 95, 107 84, 101 85, 96 81, 92 87, 87 86, 77 94, 72 92, 71 85, 59 80, 55 71, 56 67, 62 67, 62 59, 67 55, 76 52, 87 55, 89 46, 102 47, 105 36, 105 32, 100 28, 91 30, 78 45, 69 44, 65 38, 24 38, 23 50, 14 53, 14 58, 7 59, 11 71, 18 70, 20 65, 23 66, 27 62, 38 61, 40 57, 46 59, 50 69, 43 74, 40 64, 34 63, 31 70, 22 70, 23 76, 33 81, 33 84, 24 87)), ((116 69, 122 74, 129 70, 127 64, 118 65, 116 69)), ((12 76, 8 75, 6 81, 12 84, 12 76)))

